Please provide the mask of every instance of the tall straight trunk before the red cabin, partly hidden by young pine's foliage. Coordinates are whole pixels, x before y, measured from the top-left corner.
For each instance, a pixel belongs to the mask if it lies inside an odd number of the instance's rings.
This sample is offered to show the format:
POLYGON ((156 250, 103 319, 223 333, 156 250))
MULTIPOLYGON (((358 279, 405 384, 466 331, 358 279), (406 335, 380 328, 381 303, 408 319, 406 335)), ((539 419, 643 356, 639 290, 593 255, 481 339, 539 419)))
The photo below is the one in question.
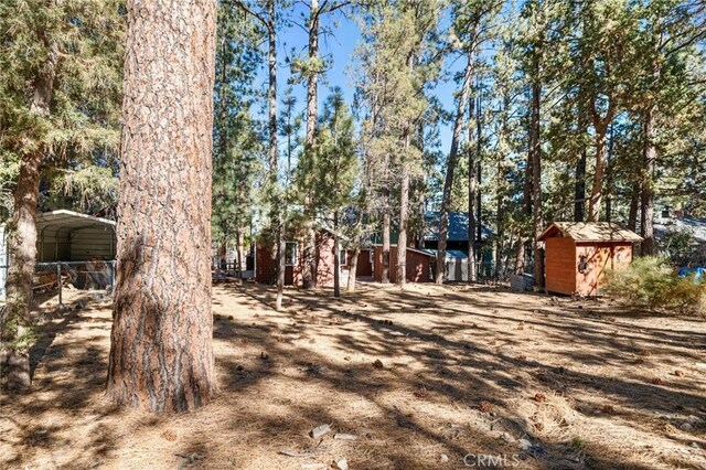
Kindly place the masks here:
MULTIPOLYGON (((309 9, 309 64, 311 70, 307 82, 307 135, 304 138, 304 151, 307 152, 313 152, 317 138, 319 70, 313 64, 319 61, 319 0, 311 0, 309 9)), ((306 289, 317 286, 317 234, 314 231, 315 207, 313 207, 313 194, 309 192, 304 200, 307 243, 304 246, 302 277, 306 289)))

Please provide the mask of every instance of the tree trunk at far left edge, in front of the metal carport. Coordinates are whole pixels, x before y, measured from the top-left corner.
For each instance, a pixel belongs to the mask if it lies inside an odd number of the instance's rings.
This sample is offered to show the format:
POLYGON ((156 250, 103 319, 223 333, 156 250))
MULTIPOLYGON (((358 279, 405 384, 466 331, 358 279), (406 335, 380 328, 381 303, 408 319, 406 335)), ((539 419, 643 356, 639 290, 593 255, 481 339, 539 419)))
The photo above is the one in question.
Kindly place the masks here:
MULTIPOLYGON (((47 46, 46 63, 33 84, 30 114, 39 119, 50 115, 58 52, 47 46)), ((31 139, 31 136, 28 136, 31 139)), ((32 342, 32 277, 36 263, 36 206, 40 168, 44 145, 36 137, 34 149, 22 154, 20 175, 14 189, 14 207, 8 224, 9 271, 6 281, 6 307, 0 318, 0 370, 9 388, 31 385, 30 345, 32 342)))

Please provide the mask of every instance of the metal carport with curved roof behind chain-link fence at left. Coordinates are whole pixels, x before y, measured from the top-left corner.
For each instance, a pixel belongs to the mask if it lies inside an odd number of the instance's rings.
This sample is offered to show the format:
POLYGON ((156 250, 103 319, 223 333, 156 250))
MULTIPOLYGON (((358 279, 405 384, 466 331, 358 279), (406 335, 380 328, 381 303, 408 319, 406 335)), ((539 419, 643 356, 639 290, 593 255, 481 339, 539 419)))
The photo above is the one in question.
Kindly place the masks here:
MULTIPOLYGON (((71 281, 78 288, 98 284, 106 287, 111 278, 111 267, 103 261, 115 260, 115 222, 94 217, 74 211, 57 210, 39 214, 36 217, 36 263, 66 263, 76 273, 71 281), (95 278, 95 279, 94 279, 95 278)), ((0 299, 4 299, 4 285, 8 273, 7 233, 0 226, 0 299)), ((49 265, 43 265, 49 266, 49 265)), ((55 269, 47 275, 55 286, 55 269)), ((43 275, 38 273, 36 284, 45 284, 43 275)))

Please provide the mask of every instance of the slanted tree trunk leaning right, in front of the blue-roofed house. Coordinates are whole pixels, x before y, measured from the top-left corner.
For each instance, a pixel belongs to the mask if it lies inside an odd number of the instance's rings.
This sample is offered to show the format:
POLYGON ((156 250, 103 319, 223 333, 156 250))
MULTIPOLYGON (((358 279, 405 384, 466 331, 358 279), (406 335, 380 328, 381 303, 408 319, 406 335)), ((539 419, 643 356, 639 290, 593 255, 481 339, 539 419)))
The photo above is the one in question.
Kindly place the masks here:
POLYGON ((441 214, 439 216, 439 245, 437 247, 437 273, 436 284, 442 284, 446 275, 446 246, 449 235, 449 211, 451 210, 451 191, 453 189, 453 172, 456 171, 457 158, 459 151, 459 140, 463 127, 463 115, 466 114, 466 100, 471 88, 471 79, 473 77, 473 54, 469 52, 468 64, 466 64, 466 74, 461 84, 461 94, 456 107, 456 119, 453 122, 453 132, 451 133, 451 148, 449 149, 449 159, 446 164, 446 179, 443 180, 443 195, 441 197, 441 214))

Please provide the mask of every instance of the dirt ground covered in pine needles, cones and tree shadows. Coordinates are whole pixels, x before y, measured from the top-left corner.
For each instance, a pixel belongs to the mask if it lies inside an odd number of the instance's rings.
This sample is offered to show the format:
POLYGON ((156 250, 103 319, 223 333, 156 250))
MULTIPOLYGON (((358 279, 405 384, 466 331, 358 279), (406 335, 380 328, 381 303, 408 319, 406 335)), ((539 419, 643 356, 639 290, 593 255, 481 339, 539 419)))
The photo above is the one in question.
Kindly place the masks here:
POLYGON ((109 299, 44 301, 0 467, 706 469, 703 320, 480 286, 274 295, 214 287, 220 393, 175 416, 105 399, 109 299))

